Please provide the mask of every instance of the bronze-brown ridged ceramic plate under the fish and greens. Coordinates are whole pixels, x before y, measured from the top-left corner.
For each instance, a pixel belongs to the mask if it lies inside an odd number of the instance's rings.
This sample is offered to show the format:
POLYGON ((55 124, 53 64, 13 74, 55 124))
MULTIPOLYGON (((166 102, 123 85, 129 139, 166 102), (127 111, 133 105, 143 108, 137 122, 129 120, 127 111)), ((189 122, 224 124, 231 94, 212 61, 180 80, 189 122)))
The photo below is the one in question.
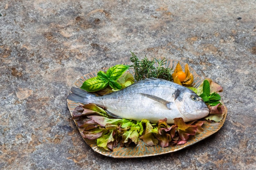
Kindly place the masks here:
MULTIPOLYGON (((165 67, 169 68, 174 68, 176 67, 177 63, 179 61, 177 60, 167 60, 166 64, 164 65, 165 67)), ((184 66, 186 63, 180 62, 180 65, 182 66, 184 70, 184 66)), ((189 68, 190 72, 194 76, 194 82, 193 86, 198 87, 203 80, 198 76, 198 74, 190 67, 189 68)), ((104 71, 104 70, 103 70, 104 71)), ((106 69, 105 69, 106 71, 106 69)), ((130 73, 134 73, 133 69, 129 69, 130 73)), ((74 83, 74 87, 80 88, 83 84, 83 82, 86 79, 89 79, 91 77, 96 77, 98 71, 91 72, 89 74, 83 75, 80 79, 78 79, 74 83)), ((223 104, 223 102, 222 102, 223 104)), ((72 116, 72 113, 76 106, 79 106, 80 104, 71 100, 67 100, 67 106, 70 110, 70 114, 72 116)), ((149 156, 155 156, 155 155, 162 155, 166 153, 171 153, 171 152, 176 152, 177 150, 181 150, 183 148, 187 148, 211 135, 216 133, 220 128, 223 126, 225 119, 227 117, 227 107, 223 104, 225 107, 225 114, 223 116, 223 119, 219 122, 208 122, 206 121, 202 128, 204 131, 200 134, 196 134, 194 137, 189 138, 189 140, 186 142, 186 144, 182 145, 177 145, 177 146, 168 146, 166 148, 160 147, 160 146, 147 146, 142 140, 139 140, 139 143, 136 146, 129 146, 129 147, 120 147, 118 144, 116 148, 113 149, 112 152, 106 151, 103 148, 100 148, 97 146, 95 140, 89 140, 89 139, 84 139, 84 141, 95 151, 98 152, 101 155, 105 155, 108 157, 114 157, 114 158, 136 158, 136 157, 149 157, 149 156)), ((76 120, 74 119, 75 124, 76 120)), ((81 133, 81 131, 80 131, 81 133)))

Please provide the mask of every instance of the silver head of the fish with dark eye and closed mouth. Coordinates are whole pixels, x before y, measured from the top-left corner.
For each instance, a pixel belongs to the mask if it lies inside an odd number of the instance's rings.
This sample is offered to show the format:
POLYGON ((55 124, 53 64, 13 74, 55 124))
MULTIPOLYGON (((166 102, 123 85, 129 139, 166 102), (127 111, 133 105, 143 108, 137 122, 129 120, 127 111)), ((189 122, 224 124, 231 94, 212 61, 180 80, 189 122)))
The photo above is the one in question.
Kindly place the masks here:
POLYGON ((201 119, 209 115, 209 108, 193 91, 185 91, 177 97, 175 103, 180 113, 186 118, 184 121, 201 119))

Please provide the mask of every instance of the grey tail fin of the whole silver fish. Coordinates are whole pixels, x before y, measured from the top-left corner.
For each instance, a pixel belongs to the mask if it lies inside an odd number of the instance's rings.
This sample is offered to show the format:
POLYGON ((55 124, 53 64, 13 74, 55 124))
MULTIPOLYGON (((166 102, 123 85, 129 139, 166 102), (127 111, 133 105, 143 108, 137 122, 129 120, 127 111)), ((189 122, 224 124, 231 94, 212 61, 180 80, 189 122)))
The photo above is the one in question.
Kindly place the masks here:
POLYGON ((83 91, 80 88, 71 88, 71 92, 68 96, 67 99, 72 100, 74 102, 78 103, 83 103, 83 104, 89 104, 91 103, 91 100, 95 95, 88 93, 86 91, 83 91))

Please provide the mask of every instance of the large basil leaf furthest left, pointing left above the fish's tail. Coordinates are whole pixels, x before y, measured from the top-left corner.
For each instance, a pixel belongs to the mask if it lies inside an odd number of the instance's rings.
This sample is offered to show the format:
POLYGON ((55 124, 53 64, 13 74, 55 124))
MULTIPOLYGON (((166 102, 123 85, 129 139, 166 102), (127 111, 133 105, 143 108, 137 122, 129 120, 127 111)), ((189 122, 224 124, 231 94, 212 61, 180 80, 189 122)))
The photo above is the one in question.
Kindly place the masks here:
POLYGON ((106 88, 106 86, 108 86, 108 82, 99 79, 99 77, 93 77, 83 82, 81 89, 88 92, 96 92, 106 88))

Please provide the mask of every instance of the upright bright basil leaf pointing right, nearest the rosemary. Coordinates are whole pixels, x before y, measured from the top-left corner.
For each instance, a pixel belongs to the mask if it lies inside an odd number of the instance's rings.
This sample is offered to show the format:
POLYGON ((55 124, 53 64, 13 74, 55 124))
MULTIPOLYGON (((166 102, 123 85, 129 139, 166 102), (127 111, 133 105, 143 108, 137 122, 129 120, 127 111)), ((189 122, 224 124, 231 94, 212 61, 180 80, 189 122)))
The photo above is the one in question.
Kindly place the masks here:
POLYGON ((108 71, 106 72, 106 75, 108 76, 108 78, 110 78, 111 80, 117 80, 119 79, 119 77, 121 77, 121 75, 126 72, 126 70, 128 70, 130 66, 126 66, 126 65, 115 65, 113 67, 108 68, 108 71))

